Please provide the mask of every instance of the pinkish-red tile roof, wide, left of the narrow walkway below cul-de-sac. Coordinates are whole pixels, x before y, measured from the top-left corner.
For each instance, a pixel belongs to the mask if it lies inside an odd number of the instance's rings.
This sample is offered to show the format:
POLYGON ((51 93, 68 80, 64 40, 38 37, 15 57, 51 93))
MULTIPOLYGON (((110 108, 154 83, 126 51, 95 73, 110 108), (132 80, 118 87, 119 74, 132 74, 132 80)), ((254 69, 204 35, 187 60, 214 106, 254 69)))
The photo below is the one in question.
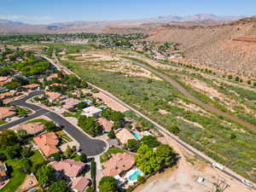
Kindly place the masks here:
POLYGON ((73 180, 74 177, 77 177, 79 173, 84 171, 86 164, 76 160, 61 160, 52 161, 49 163, 49 166, 52 166, 60 175, 73 180))

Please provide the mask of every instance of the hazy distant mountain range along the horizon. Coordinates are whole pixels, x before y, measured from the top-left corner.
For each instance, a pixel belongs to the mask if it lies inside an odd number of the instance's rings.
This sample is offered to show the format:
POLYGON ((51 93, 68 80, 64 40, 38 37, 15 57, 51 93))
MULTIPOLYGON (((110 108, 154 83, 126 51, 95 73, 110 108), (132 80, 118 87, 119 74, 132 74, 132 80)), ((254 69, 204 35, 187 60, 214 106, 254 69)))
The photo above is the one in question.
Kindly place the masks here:
POLYGON ((240 20, 244 16, 219 16, 219 15, 189 15, 189 16, 159 16, 138 20, 101 20, 101 21, 71 21, 52 23, 49 25, 30 25, 22 22, 0 20, 1 33, 61 33, 61 32, 104 32, 109 26, 140 26, 144 24, 167 24, 172 21, 203 21, 223 23, 240 20))

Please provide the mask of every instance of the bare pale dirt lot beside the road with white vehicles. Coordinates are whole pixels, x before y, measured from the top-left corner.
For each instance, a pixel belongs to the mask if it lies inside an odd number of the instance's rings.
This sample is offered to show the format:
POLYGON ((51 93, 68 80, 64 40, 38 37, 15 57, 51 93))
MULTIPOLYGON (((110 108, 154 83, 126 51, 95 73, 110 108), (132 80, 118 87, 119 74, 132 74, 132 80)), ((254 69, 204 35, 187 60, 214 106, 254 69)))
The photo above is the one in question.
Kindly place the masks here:
POLYGON ((195 156, 184 151, 177 143, 161 137, 160 141, 168 143, 180 155, 178 165, 163 173, 150 177, 147 183, 139 186, 136 192, 212 192, 213 183, 225 181, 228 185, 224 192, 252 192, 245 185, 238 183, 222 172, 207 165, 195 156), (198 177, 205 178, 203 183, 198 183, 198 177))

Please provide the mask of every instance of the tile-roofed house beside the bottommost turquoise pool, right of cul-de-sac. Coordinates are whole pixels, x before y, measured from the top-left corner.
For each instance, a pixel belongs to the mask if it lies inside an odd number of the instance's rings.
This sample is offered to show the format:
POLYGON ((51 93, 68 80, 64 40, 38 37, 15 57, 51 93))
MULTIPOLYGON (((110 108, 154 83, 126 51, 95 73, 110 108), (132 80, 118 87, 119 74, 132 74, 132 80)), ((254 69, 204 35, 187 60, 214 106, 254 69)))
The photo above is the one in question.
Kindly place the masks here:
POLYGON ((102 174, 104 176, 116 176, 121 172, 128 171, 134 166, 135 160, 131 154, 123 153, 123 154, 112 154, 112 157, 103 163, 103 171, 102 174))

